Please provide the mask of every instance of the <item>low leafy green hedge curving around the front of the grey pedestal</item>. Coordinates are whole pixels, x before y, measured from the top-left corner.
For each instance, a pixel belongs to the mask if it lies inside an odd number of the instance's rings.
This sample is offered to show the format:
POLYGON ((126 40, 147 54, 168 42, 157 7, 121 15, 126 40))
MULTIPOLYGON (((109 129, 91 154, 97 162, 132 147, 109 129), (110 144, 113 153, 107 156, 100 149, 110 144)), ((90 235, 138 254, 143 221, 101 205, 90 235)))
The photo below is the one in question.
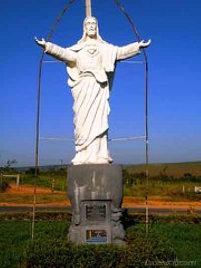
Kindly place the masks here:
MULTIPOLYGON (((127 245, 73 245, 61 239, 29 242, 25 266, 29 267, 146 267, 150 264, 160 267, 173 263, 176 255, 164 237, 156 230, 145 234, 144 226, 131 227, 127 232, 127 245)), ((152 265, 153 266, 153 265, 152 265)))

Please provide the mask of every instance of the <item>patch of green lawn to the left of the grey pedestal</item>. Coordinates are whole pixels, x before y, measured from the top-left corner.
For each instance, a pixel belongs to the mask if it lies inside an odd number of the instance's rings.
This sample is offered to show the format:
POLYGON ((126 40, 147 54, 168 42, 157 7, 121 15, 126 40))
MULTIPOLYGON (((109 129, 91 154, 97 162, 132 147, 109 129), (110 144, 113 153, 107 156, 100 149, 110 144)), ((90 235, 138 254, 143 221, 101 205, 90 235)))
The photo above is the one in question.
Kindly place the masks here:
MULTIPOLYGON (((69 222, 40 221, 36 223, 35 238, 67 239, 69 222)), ((24 259, 27 242, 31 240, 31 222, 0 222, 0 267, 17 267, 24 259)))

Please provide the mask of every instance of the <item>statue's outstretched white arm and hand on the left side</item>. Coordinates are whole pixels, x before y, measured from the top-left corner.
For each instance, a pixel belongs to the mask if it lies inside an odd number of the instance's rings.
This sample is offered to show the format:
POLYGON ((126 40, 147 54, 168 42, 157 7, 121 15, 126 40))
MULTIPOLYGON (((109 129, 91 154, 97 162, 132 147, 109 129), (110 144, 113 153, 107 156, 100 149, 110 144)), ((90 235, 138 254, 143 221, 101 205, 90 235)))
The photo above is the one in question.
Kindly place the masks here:
POLYGON ((76 52, 71 51, 69 48, 63 48, 53 43, 46 42, 44 38, 42 38, 42 40, 38 40, 35 37, 35 41, 39 46, 45 49, 45 53, 51 55, 58 60, 65 62, 76 61, 76 52))

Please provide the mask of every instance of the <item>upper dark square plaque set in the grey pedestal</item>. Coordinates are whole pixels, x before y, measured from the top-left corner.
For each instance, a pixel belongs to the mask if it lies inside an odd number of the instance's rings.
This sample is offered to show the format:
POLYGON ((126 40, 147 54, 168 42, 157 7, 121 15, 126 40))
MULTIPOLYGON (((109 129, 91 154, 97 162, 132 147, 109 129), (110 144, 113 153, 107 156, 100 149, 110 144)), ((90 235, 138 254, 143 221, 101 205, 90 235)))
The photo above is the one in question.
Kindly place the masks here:
POLYGON ((85 205, 85 215, 88 221, 105 221, 106 205, 85 205))

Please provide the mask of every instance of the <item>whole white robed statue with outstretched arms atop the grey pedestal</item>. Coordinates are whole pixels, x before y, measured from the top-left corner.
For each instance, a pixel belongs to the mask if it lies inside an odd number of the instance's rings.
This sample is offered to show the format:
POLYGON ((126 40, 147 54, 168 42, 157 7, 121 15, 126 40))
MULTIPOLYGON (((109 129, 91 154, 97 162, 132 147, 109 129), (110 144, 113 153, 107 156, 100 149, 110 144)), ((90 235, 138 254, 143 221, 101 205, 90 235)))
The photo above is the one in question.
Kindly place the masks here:
POLYGON ((108 150, 109 97, 115 63, 140 53, 148 42, 114 46, 104 41, 98 32, 97 20, 87 17, 83 36, 77 44, 63 48, 46 42, 36 43, 54 58, 66 63, 68 85, 74 99, 75 156, 77 164, 106 164, 113 160, 108 150))

